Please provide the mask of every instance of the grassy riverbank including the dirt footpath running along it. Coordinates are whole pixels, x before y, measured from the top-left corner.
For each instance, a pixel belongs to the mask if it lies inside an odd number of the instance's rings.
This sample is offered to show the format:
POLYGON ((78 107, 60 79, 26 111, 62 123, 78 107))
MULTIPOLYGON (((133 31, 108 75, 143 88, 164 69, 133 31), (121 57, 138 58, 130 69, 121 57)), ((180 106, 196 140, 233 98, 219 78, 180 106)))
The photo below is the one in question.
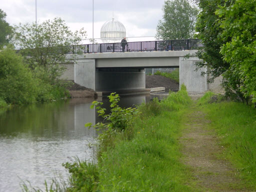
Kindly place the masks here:
POLYGON ((210 98, 206 94, 193 102, 181 90, 141 105, 131 126, 108 135, 97 164, 66 166, 72 173, 70 191, 81 186, 91 191, 255 191, 250 134, 256 111, 241 103, 209 103, 210 98))

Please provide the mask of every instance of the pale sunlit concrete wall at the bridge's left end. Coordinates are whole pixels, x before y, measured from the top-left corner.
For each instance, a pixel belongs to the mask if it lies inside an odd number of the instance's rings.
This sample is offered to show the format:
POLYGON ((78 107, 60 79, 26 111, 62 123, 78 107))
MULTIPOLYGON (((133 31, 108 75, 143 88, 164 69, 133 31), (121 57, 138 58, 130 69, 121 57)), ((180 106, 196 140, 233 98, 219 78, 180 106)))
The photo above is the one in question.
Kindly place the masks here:
POLYGON ((82 59, 75 62, 74 82, 95 90, 95 59, 82 59))

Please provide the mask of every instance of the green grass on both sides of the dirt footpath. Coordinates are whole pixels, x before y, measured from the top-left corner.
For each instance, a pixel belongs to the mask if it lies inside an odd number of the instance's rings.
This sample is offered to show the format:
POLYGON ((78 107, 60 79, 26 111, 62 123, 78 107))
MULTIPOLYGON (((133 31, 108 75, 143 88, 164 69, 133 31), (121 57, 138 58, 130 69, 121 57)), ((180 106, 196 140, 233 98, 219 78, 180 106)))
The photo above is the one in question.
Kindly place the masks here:
MULTIPOLYGON (((237 102, 218 102, 219 99, 219 95, 207 92, 193 105, 194 110, 203 110, 211 120, 210 128, 217 132, 219 144, 225 148, 222 157, 239 169, 243 186, 255 188, 256 109, 237 102)), ((163 101, 154 99, 138 106, 124 130, 104 132, 103 138, 111 144, 100 146, 104 149, 100 150, 97 164, 79 160, 65 164, 71 173, 65 190, 204 191, 196 184, 189 167, 181 162, 178 139, 184 129, 182 117, 191 110, 190 106, 183 85, 163 101)))

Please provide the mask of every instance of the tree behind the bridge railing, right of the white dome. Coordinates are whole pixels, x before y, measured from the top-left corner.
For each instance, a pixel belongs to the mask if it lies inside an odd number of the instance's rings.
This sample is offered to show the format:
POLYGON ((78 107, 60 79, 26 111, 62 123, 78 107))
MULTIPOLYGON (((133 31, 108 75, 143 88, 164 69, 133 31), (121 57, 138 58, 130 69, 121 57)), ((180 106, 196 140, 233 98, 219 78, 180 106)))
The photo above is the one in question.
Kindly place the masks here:
POLYGON ((198 9, 188 0, 165 0, 163 19, 156 27, 157 39, 185 39, 194 34, 194 24, 198 9))

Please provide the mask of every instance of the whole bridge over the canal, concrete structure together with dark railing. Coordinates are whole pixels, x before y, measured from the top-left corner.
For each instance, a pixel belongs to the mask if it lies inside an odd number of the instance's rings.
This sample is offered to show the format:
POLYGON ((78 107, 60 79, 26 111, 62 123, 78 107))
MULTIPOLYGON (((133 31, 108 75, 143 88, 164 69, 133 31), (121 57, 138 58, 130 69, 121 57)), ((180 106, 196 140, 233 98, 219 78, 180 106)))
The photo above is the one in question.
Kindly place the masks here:
POLYGON ((75 45, 83 54, 74 63, 65 64, 62 78, 92 88, 95 91, 138 90, 145 88, 145 68, 179 68, 179 84, 189 92, 208 90, 205 68, 195 71, 196 57, 201 47, 198 39, 128 42, 122 52, 120 43, 75 45), (107 46, 110 46, 110 49, 107 46), (168 46, 169 45, 169 46, 168 46))

